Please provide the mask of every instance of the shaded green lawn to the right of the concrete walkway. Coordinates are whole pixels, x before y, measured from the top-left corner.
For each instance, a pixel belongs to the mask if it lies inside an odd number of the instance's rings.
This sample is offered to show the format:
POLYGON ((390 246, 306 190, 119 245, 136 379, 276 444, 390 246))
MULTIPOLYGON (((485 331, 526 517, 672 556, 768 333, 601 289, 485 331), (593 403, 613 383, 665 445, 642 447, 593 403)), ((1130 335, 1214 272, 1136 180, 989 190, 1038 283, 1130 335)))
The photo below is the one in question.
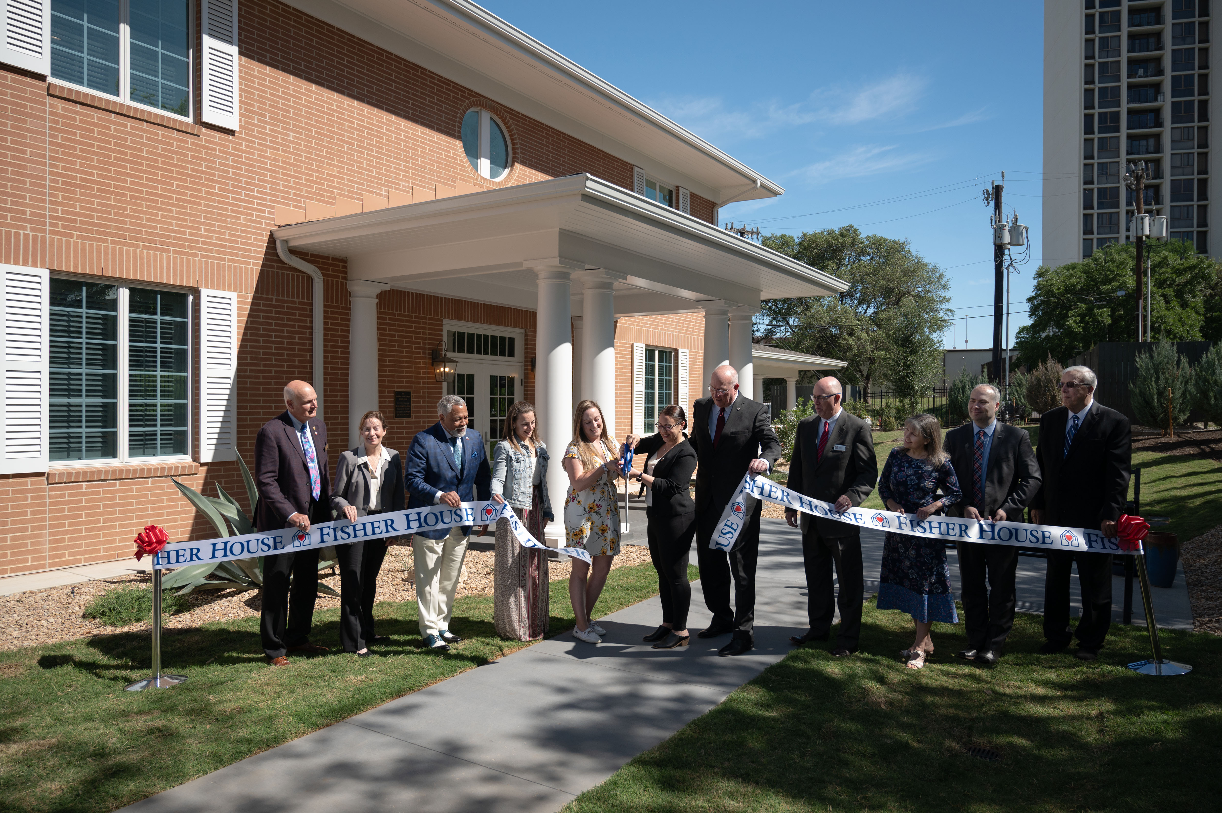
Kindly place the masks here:
POLYGON ((1216 811, 1222 639, 1165 632, 1195 671, 1146 677, 1124 669, 1147 657, 1141 627, 1114 625, 1084 664, 1037 654, 1040 624, 1019 616, 995 669, 953 658, 962 625, 936 625, 914 671, 910 617, 868 605, 862 653, 796 650, 565 809, 1216 811))

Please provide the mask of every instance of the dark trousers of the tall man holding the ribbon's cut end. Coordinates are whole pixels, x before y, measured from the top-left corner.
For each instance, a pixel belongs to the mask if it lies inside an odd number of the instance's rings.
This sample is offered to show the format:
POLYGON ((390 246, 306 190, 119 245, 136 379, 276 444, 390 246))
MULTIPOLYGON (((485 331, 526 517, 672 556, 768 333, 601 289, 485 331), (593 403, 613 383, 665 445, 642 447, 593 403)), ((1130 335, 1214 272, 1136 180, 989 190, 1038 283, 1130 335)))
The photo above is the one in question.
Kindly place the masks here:
POLYGON ((760 555, 760 511, 756 502, 747 527, 731 551, 709 548, 721 511, 706 511, 697 520, 695 561, 700 568, 704 603, 712 613, 711 627, 730 627, 752 637, 755 625, 755 561, 760 555), (734 609, 730 609, 730 584, 734 584, 734 609))

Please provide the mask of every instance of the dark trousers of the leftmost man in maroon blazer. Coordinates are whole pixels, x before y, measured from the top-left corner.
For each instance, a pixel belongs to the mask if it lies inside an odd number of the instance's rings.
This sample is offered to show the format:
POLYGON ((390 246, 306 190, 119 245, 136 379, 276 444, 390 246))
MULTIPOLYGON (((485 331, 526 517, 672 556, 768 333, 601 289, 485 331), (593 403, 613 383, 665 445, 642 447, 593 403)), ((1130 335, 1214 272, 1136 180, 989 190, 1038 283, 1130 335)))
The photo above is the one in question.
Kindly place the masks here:
POLYGON ((309 643, 316 597, 316 548, 264 556, 259 633, 268 658, 280 658, 288 647, 309 643), (292 593, 288 589, 290 573, 292 573, 292 593))

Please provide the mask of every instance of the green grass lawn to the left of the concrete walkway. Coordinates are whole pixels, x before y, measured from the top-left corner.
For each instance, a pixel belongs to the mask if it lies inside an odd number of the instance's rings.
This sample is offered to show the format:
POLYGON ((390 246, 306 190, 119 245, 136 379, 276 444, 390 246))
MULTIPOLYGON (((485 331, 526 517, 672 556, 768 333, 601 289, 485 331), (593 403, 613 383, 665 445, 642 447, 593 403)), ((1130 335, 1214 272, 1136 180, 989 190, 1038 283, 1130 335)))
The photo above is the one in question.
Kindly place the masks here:
MULTIPOLYGON (((651 565, 620 567, 598 613, 656 593, 651 565)), ((567 579, 551 582, 551 637, 572 628, 567 579)), ((258 616, 169 630, 163 664, 189 680, 161 691, 123 691, 148 671, 147 632, 0 653, 0 811, 112 811, 530 646, 496 636, 491 595, 457 599, 466 641, 447 654, 419 649, 414 601, 376 613, 389 657, 337 652, 329 609, 312 638, 332 653, 284 669, 265 665, 258 616)))

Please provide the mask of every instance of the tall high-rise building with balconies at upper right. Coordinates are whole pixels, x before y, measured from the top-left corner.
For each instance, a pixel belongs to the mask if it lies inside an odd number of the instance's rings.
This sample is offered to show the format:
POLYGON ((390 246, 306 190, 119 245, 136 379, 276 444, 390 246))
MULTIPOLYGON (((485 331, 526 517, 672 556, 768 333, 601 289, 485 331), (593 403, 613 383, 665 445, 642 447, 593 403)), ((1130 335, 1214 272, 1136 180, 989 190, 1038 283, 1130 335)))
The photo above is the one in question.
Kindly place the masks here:
POLYGON ((1139 160, 1145 210, 1168 218, 1172 240, 1222 254, 1210 242, 1222 224, 1209 203, 1209 44, 1210 0, 1044 4, 1045 265, 1132 238, 1123 178, 1139 160))

